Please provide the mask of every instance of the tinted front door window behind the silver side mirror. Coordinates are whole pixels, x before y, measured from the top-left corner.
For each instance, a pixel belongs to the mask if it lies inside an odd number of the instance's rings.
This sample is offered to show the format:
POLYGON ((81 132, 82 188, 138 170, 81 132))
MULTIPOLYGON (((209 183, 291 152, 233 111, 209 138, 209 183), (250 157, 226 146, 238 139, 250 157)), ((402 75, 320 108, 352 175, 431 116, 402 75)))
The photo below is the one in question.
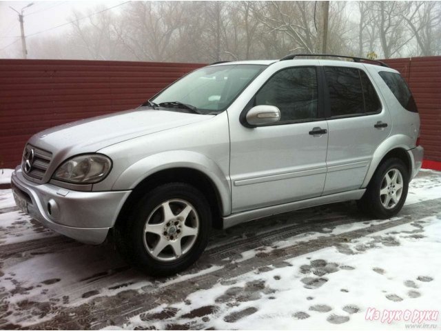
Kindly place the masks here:
POLYGON ((314 67, 276 72, 257 92, 254 106, 271 105, 280 110, 280 121, 318 117, 317 73, 314 67))

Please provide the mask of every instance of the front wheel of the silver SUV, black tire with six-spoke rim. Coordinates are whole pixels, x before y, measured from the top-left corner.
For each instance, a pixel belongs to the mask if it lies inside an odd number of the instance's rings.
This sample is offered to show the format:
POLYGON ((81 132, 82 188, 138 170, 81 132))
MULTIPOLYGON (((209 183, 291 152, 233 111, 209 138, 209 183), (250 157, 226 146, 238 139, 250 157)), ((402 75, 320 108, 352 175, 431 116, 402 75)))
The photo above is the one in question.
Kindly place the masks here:
POLYGON ((212 227, 204 195, 186 183, 167 183, 147 192, 115 229, 123 257, 152 276, 187 269, 203 253, 212 227))

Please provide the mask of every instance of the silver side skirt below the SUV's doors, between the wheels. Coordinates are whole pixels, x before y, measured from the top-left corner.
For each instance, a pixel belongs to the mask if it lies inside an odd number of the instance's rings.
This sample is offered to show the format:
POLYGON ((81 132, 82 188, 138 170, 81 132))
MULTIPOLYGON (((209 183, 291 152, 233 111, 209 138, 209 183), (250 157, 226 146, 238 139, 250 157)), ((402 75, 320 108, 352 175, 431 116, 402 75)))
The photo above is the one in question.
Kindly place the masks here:
POLYGON ((292 210, 310 208, 316 205, 325 205, 327 203, 336 203, 348 200, 358 200, 361 199, 363 194, 365 194, 365 191, 365 189, 352 190, 348 192, 325 195, 324 197, 316 197, 307 200, 283 203, 282 205, 271 205, 265 208, 247 210, 246 212, 237 212, 227 217, 223 217, 223 228, 231 228, 234 225, 253 221, 254 219, 261 219, 263 217, 269 217, 271 215, 281 214, 283 212, 290 212, 292 210))

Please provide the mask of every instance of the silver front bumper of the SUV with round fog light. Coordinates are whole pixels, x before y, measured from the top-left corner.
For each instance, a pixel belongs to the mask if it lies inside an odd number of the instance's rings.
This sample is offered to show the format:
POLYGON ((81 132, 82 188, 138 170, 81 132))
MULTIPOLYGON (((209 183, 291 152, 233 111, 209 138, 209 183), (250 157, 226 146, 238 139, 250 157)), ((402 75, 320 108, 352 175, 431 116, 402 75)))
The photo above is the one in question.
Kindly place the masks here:
POLYGON ((12 172, 12 192, 25 201, 30 217, 46 227, 82 243, 99 244, 107 237, 131 191, 79 192, 23 177, 12 172))

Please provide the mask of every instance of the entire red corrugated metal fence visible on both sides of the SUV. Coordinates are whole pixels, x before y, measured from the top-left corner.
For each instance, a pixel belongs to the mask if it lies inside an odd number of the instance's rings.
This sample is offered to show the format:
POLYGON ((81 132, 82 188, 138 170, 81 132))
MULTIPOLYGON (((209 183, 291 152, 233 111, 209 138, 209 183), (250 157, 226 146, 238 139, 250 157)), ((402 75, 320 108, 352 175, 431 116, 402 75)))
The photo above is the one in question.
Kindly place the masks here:
MULTIPOLYGON (((441 57, 385 60, 409 82, 422 120, 425 158, 441 161, 441 57)), ((183 74, 189 63, 0 59, 0 168, 20 162, 32 134, 130 109, 183 74)))

